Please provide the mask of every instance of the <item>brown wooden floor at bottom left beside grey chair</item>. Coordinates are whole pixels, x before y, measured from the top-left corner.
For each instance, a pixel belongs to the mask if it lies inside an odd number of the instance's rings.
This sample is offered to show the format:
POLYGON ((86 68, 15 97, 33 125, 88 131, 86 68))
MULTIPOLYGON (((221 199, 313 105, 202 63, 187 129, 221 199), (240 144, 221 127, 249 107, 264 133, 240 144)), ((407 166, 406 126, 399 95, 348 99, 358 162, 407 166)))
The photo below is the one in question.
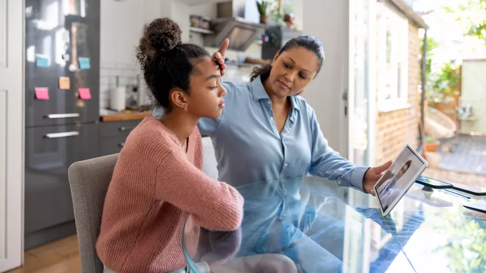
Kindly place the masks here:
POLYGON ((24 266, 7 273, 81 273, 77 236, 26 251, 24 266))

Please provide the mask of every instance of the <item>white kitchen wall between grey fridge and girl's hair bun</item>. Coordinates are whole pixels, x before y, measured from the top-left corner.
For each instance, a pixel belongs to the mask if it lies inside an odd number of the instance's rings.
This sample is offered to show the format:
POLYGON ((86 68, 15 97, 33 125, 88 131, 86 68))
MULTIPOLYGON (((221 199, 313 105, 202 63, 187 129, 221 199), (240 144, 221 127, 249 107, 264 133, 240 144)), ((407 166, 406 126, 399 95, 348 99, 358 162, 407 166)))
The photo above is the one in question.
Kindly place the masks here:
POLYGON ((139 74, 135 50, 143 26, 160 17, 170 17, 182 29, 182 40, 189 41, 188 6, 172 0, 101 1, 100 26, 100 108, 108 108, 109 90, 135 84, 139 74))

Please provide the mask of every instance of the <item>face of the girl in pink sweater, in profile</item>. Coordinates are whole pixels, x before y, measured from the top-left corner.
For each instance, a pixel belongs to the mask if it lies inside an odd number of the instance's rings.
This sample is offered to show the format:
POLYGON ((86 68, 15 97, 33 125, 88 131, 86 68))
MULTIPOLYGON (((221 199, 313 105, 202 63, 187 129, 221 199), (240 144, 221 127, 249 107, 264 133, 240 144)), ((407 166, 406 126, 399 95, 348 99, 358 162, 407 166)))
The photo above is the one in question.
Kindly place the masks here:
POLYGON ((221 70, 210 57, 196 64, 190 77, 187 112, 196 117, 218 118, 224 108, 226 90, 221 85, 221 70))

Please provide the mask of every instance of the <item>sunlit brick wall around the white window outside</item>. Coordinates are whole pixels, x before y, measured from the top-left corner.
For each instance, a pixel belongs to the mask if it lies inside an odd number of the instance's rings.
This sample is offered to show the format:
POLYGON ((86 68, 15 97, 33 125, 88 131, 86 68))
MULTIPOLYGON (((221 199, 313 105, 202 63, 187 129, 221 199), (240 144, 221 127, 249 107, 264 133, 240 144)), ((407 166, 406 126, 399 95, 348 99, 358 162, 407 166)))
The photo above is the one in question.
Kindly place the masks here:
MULTIPOLYGON (((409 24, 409 92, 408 102, 410 108, 392 112, 379 112, 376 116, 376 162, 382 164, 393 160, 403 149, 410 144, 418 148, 418 122, 420 120, 420 94, 417 92, 420 73, 420 39, 418 28, 409 24)), ((377 90, 377 100, 378 100, 377 90)))

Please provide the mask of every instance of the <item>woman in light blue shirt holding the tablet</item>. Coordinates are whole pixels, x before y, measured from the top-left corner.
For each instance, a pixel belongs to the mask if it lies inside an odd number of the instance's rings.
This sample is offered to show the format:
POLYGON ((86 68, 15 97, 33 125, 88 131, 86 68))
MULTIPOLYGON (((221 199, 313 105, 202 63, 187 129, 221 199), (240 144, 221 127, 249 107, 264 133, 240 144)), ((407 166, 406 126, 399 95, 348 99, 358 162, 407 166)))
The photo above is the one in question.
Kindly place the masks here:
MULTIPOLYGON (((228 39, 225 39, 219 51, 213 55, 220 64, 222 74, 228 44, 228 39)), ((335 180, 339 186, 374 194, 373 186, 391 161, 368 168, 356 166, 342 158, 329 147, 312 107, 298 96, 319 73, 324 59, 321 42, 315 37, 301 35, 289 40, 275 54, 271 64, 256 69, 251 75, 251 82, 222 83, 227 95, 226 108, 221 117, 201 118, 197 124, 201 133, 211 137, 219 179, 234 187, 241 187, 264 180, 278 183, 282 178, 302 177, 310 173, 335 180)), ((161 109, 155 109, 153 115, 160 113, 161 109)), ((296 240, 302 242, 302 238, 305 238, 300 232, 303 229, 294 227, 282 224, 282 231, 291 238, 287 243, 282 243, 285 246, 292 245, 296 240)), ((242 242, 246 245, 242 246, 240 254, 271 252, 265 248, 267 242, 261 243, 262 240, 256 238, 262 235, 245 234, 245 230, 242 242), (253 244, 255 241, 259 245, 253 244)), ((308 254, 299 258, 299 255, 291 253, 296 253, 294 250, 288 249, 286 255, 306 267, 308 272, 340 270, 339 258, 333 259, 312 240, 304 241, 306 243, 300 245, 306 247, 298 252, 308 254), (319 257, 327 255, 329 259, 310 258, 312 254, 319 257), (306 258, 307 261, 300 261, 306 258)), ((333 255, 342 256, 340 251, 338 249, 333 255)))

